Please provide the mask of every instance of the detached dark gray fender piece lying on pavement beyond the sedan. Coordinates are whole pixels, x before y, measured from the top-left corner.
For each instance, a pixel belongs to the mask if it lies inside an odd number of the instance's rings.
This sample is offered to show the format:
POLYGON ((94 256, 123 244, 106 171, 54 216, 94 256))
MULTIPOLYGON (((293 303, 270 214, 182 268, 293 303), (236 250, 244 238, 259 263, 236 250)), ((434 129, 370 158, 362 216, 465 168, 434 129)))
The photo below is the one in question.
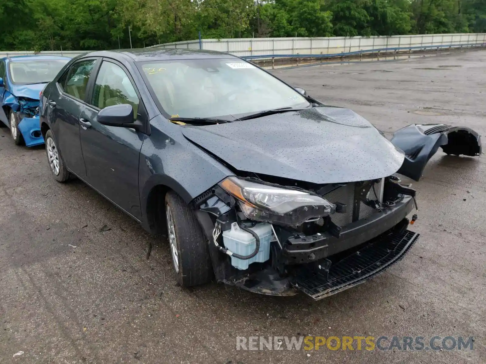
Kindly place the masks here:
POLYGON ((409 125, 395 132, 391 142, 405 152, 398 173, 415 181, 422 177, 425 165, 439 147, 447 154, 481 154, 481 136, 477 132, 445 124, 409 125))

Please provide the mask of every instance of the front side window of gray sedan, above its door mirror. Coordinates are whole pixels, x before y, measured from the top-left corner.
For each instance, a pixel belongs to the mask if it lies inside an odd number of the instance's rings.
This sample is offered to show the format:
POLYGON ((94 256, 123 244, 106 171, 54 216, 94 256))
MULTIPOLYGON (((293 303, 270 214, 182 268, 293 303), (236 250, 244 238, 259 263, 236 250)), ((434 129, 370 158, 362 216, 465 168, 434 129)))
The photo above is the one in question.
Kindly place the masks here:
POLYGON ((91 105, 103 109, 106 106, 130 104, 137 118, 139 97, 130 78, 118 65, 104 61, 96 78, 91 105))

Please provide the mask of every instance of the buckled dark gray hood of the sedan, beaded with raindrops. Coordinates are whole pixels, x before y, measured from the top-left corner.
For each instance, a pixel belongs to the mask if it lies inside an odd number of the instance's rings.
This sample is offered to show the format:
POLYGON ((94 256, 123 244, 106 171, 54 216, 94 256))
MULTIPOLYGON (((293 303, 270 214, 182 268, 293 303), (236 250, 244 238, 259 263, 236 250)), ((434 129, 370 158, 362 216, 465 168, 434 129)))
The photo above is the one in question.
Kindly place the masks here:
POLYGON ((335 107, 185 126, 182 133, 236 170, 319 184, 386 177, 404 160, 367 120, 335 107))

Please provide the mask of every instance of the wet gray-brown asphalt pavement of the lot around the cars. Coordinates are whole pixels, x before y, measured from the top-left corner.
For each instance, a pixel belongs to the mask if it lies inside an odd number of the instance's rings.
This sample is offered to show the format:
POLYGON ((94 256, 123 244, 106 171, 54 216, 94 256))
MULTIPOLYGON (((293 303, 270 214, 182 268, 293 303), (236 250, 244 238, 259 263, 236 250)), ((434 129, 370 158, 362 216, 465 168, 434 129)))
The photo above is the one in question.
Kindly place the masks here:
MULTIPOLYGON (((411 123, 486 135, 485 61, 480 50, 274 73, 387 135, 411 123)), ((43 148, 17 147, 1 128, 0 157, 0 363, 486 362, 484 155, 439 151, 413 184, 414 248, 375 279, 317 302, 216 283, 182 289, 167 242, 83 182, 55 182, 43 148), (237 336, 269 335, 387 336, 382 347, 394 335, 423 336, 425 347, 435 335, 475 341, 473 350, 236 350, 237 336)))

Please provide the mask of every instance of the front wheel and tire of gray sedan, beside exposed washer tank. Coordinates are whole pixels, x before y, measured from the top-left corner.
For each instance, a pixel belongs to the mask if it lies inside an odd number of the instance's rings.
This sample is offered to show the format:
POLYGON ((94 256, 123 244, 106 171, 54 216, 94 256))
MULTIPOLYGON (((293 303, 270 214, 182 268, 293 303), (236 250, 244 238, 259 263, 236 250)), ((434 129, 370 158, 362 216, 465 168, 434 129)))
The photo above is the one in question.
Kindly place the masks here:
POLYGON ((209 246, 194 212, 175 192, 165 197, 167 232, 177 283, 183 287, 213 278, 209 246))

